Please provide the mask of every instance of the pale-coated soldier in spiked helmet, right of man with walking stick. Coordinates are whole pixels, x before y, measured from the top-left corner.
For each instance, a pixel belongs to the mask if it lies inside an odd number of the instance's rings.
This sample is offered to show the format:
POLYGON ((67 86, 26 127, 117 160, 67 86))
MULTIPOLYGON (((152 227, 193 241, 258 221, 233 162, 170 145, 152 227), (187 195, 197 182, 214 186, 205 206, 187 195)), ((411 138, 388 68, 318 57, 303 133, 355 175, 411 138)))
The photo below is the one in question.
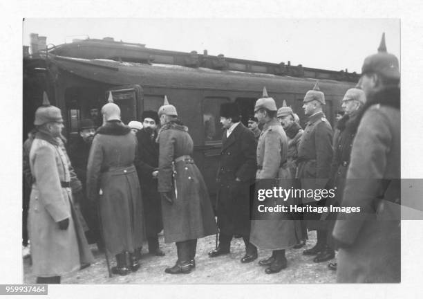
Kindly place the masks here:
MULTIPOLYGON (((254 111, 259 123, 263 124, 256 152, 256 188, 289 189, 292 187, 292 174, 287 163, 288 140, 281 123, 276 119, 276 103, 267 96, 265 89, 263 98, 256 101, 254 111)), ((265 204, 288 206, 288 202, 282 197, 272 197, 266 199, 265 204)), ((277 273, 286 268, 288 261, 285 249, 295 246, 301 239, 301 231, 296 229, 295 222, 285 212, 269 213, 265 219, 251 221, 250 242, 259 248, 272 250, 272 256, 259 262, 260 265, 267 266, 265 273, 277 273)))

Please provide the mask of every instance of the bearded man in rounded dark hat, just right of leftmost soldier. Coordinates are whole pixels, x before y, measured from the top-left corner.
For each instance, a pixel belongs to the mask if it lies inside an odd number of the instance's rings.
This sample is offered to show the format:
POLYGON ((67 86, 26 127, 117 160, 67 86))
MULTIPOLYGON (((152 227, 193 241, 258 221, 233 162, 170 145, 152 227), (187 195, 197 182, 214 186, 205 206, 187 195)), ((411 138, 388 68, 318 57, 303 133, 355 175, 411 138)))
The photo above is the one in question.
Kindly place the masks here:
POLYGON ((104 240, 100 233, 97 206, 93 206, 86 200, 86 167, 88 165, 88 156, 90 154, 91 143, 93 143, 96 128, 93 120, 89 118, 79 120, 79 137, 70 145, 69 157, 71 158, 78 179, 82 182, 82 192, 78 193, 76 200, 81 206, 82 215, 89 228, 86 232, 88 243, 97 243, 99 251, 103 251, 104 240))

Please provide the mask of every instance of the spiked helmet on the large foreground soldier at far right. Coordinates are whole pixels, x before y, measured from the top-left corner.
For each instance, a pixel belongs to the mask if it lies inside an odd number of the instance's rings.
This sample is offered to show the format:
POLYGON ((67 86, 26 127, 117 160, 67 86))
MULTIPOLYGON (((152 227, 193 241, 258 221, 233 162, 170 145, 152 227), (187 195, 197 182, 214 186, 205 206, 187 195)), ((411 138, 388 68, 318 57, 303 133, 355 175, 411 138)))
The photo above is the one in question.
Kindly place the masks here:
POLYGON ((376 54, 366 57, 361 73, 377 73, 384 78, 400 79, 400 65, 397 57, 386 51, 385 33, 382 34, 382 41, 376 54))

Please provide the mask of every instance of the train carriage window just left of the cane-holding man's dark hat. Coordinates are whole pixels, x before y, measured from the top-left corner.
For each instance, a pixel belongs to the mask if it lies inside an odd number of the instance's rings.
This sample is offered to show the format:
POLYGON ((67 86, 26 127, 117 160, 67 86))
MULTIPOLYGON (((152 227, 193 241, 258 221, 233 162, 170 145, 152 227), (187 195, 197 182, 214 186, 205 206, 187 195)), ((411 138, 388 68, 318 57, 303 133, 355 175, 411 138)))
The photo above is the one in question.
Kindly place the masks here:
POLYGON ((225 97, 206 97, 203 99, 203 126, 205 144, 222 140, 223 128, 220 125, 220 105, 229 102, 225 97))

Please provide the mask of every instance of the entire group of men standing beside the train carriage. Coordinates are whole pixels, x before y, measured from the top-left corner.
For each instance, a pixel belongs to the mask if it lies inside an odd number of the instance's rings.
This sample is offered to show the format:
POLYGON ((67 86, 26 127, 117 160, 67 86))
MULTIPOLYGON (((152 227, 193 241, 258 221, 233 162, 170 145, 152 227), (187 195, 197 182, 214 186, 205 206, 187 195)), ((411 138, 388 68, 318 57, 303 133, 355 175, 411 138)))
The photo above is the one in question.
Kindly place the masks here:
MULTIPOLYGON (((150 253, 164 255, 158 246, 162 228, 164 241, 176 242, 178 260, 165 269, 171 274, 195 269, 197 239, 216 234, 217 228, 219 243, 209 257, 229 254, 232 238, 240 236, 242 263, 256 260, 258 248, 272 251, 259 261, 267 274, 285 269, 285 250, 303 247, 308 230, 317 230, 317 243, 303 254, 324 262, 339 250, 337 263, 328 265, 337 270, 338 282, 399 282, 400 219, 380 221, 380 216, 395 208, 386 202, 400 203, 400 71, 384 37, 378 51, 364 60, 357 87, 346 92, 335 134, 323 114, 326 101, 317 83, 303 100, 304 130, 292 109, 277 109, 265 89, 249 128, 241 123, 236 103, 220 106, 225 131, 214 203, 217 226, 203 176, 191 158, 188 128, 167 100, 158 112, 144 111, 142 125, 131 125, 133 132, 121 122, 118 105, 104 105, 103 125, 96 132, 91 120, 80 123, 82 139, 71 147, 71 159, 60 138, 60 110, 45 102, 35 114, 37 132, 28 155, 28 228, 37 282, 59 282, 60 275, 92 262, 82 223, 90 217, 77 212, 84 199, 97 211, 88 227, 101 232, 96 242, 116 256, 112 271, 120 275, 138 270, 146 230, 150 253), (256 219, 256 190, 274 187, 334 188, 332 199, 288 203, 355 206, 361 213, 342 219, 332 212, 271 213, 256 219)), ((286 204, 277 197, 266 202, 286 204)))

